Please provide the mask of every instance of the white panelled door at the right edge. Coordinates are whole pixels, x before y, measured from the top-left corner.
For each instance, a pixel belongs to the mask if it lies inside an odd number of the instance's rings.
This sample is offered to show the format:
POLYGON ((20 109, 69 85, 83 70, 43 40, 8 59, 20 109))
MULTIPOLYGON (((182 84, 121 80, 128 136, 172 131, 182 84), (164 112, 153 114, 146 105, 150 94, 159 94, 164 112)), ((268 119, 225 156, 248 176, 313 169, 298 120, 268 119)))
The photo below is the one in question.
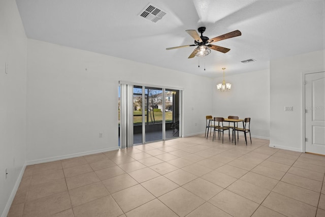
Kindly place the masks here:
POLYGON ((306 152, 325 155, 325 72, 305 75, 306 152))

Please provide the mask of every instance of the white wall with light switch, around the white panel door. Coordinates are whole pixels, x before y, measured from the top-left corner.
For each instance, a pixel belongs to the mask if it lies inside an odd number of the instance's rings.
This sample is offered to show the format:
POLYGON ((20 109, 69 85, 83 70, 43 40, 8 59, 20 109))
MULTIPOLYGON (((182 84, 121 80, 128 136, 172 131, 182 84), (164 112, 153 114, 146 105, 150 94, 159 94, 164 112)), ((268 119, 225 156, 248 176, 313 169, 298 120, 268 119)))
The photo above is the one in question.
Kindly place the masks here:
POLYGON ((303 150, 303 73, 324 71, 324 57, 321 50, 270 61, 270 146, 303 150), (294 111, 284 111, 285 106, 294 111))

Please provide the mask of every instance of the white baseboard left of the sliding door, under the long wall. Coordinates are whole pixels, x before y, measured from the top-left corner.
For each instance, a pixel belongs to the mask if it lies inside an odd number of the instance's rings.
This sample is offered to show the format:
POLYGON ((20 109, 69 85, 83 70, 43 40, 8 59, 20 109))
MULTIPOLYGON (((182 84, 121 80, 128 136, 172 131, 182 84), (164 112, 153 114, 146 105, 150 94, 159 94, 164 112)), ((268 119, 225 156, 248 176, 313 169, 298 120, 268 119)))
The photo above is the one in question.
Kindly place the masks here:
POLYGON ((64 159, 69 159, 69 158, 76 158, 76 157, 86 156, 86 155, 89 155, 89 154, 101 153, 101 152, 106 152, 106 151, 113 151, 113 150, 118 150, 118 149, 119 149, 119 147, 116 146, 116 147, 98 149, 98 150, 93 150, 93 151, 85 151, 85 152, 67 154, 67 155, 63 155, 63 156, 42 158, 42 159, 27 161, 26 165, 41 164, 41 163, 47 163, 47 162, 51 162, 51 161, 59 161, 59 160, 64 160, 64 159))

